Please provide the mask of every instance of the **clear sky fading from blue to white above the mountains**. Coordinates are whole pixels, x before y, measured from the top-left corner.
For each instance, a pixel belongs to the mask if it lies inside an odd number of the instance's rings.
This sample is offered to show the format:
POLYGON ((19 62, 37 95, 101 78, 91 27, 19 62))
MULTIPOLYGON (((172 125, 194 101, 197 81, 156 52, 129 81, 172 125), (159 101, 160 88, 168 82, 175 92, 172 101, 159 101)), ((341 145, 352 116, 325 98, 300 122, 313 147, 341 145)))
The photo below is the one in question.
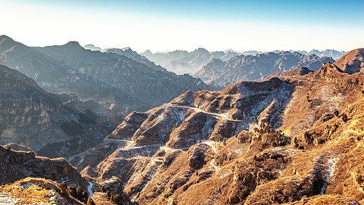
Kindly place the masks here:
POLYGON ((138 52, 350 51, 364 47, 363 11, 363 0, 0 0, 0 35, 138 52))

